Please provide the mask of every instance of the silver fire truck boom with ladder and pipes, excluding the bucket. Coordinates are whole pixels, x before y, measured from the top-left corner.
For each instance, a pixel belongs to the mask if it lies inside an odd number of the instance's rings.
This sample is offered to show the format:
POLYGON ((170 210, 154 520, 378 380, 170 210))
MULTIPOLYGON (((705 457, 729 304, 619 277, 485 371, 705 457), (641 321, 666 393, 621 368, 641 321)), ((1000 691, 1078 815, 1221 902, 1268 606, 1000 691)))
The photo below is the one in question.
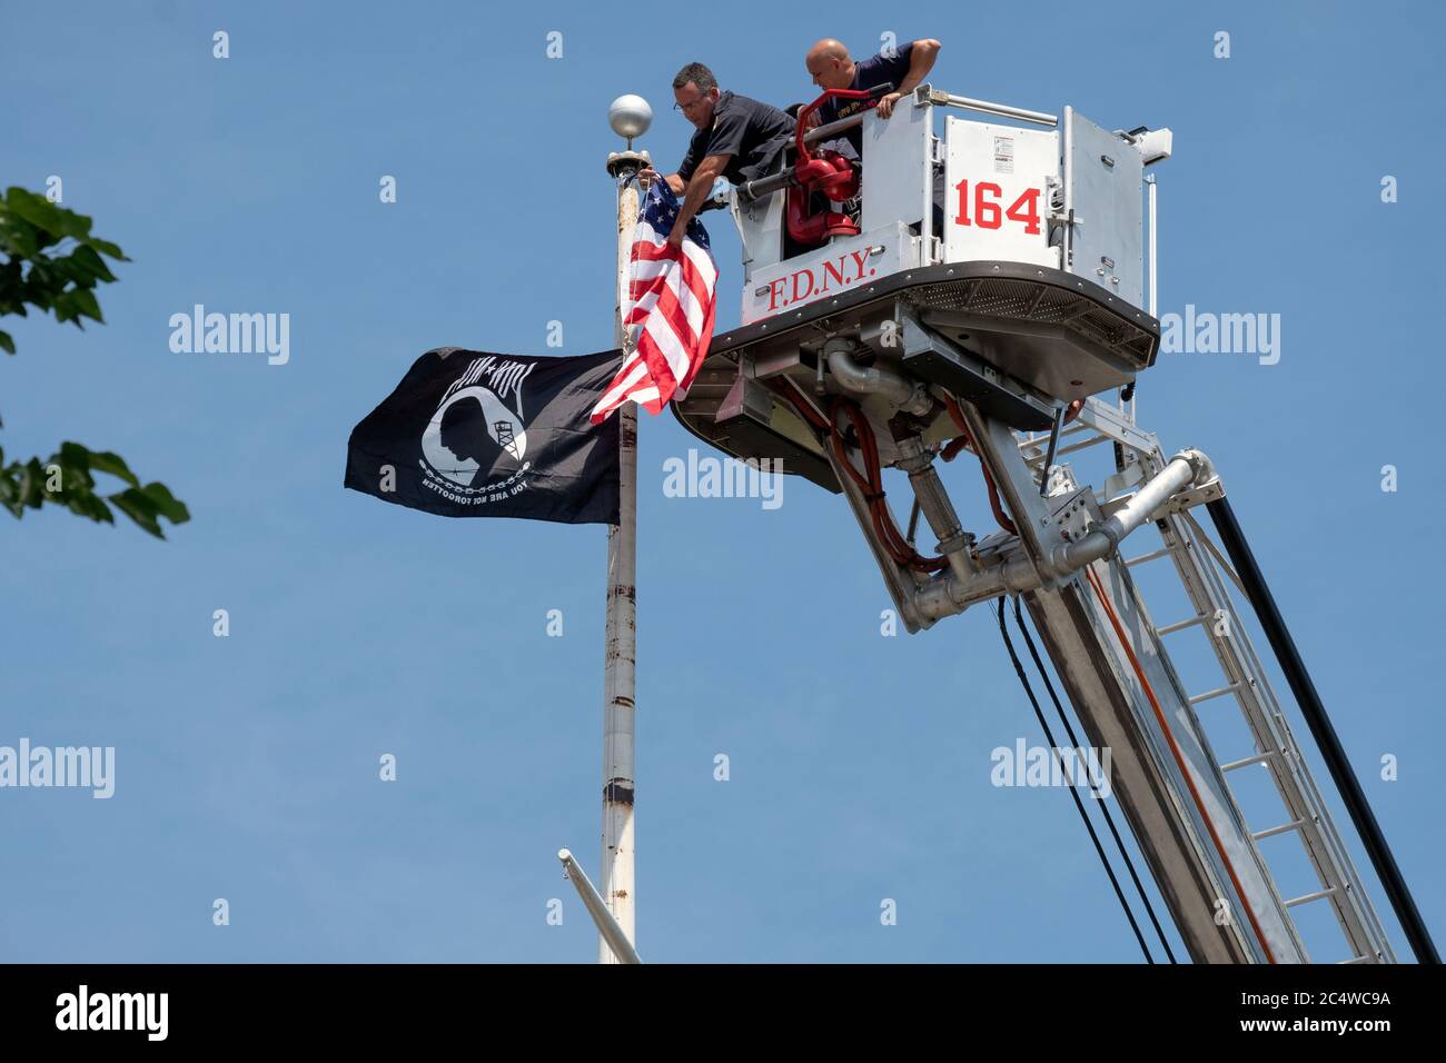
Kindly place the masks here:
MULTIPOLYGON (((905 331, 905 344, 924 330, 905 331)), ((834 341, 830 341, 833 344, 834 341)), ((875 376, 849 370, 839 346, 830 367, 865 390, 889 388, 895 405, 925 409, 912 386, 891 386, 891 372, 875 376), (875 379, 876 377, 876 379, 875 379)), ((1197 963, 1309 963, 1296 913, 1327 901, 1345 936, 1348 963, 1391 963, 1395 955, 1351 862, 1280 703, 1244 625, 1233 622, 1226 580, 1254 606, 1332 769, 1381 882, 1417 957, 1439 962, 1434 946, 1406 891, 1364 794, 1345 762, 1309 677, 1274 613, 1264 580, 1210 460, 1197 450, 1165 457, 1157 438, 1139 430, 1122 406, 1089 399, 1077 424, 1060 430, 1057 409, 1050 434, 1021 434, 963 396, 931 392, 953 402, 960 428, 985 466, 1009 521, 1005 531, 980 541, 960 529, 933 451, 917 435, 897 444, 895 464, 905 470, 914 496, 947 567, 910 570, 889 557, 869 516, 870 500, 849 474, 844 458, 829 450, 839 484, 875 552, 885 583, 910 631, 1001 594, 1019 594, 1069 693, 1090 742, 1112 752, 1112 790, 1129 820, 1192 959, 1197 963), (1053 438, 1051 438, 1053 437, 1053 438), (1051 458, 1109 443, 1116 473, 1096 495, 1076 483, 1069 466, 1051 458), (1043 482, 1043 487, 1041 487, 1043 482), (1206 537, 1190 509, 1212 506, 1235 567, 1206 537), (1125 560, 1122 539, 1147 524, 1163 547, 1125 560), (1157 626, 1135 586, 1132 570, 1170 557, 1193 615, 1157 626), (1165 639, 1187 628, 1206 632, 1222 680, 1189 691, 1165 649, 1165 639), (1232 697, 1244 713, 1254 754, 1222 761, 1213 752, 1200 713, 1232 697), (1313 701, 1313 704, 1307 704, 1313 701), (1270 823, 1248 824, 1231 777, 1264 765, 1283 810, 1270 823), (1285 897, 1277 887, 1261 842, 1294 833, 1304 846, 1317 887, 1285 897)), ((1335 950, 1333 950, 1335 952, 1335 950)))

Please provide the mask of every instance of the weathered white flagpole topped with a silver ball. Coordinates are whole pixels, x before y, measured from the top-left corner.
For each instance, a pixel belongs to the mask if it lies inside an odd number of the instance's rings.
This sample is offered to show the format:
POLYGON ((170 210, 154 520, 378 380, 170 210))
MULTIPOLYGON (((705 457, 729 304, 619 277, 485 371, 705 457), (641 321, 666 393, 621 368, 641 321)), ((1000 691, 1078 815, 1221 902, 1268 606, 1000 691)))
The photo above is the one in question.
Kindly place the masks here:
MULTIPOLYGON (((613 328, 623 357, 630 354, 623 314, 628 302, 628 262, 638 224, 638 171, 649 165, 646 152, 635 152, 632 139, 652 121, 652 108, 636 95, 613 100, 607 120, 628 150, 610 152, 607 172, 617 185, 617 272, 613 328)), ((603 898, 629 946, 636 947, 633 791, 638 667, 638 405, 617 411, 619 522, 607 526, 607 626, 603 646, 603 898)), ((599 934, 599 963, 622 962, 599 934)))

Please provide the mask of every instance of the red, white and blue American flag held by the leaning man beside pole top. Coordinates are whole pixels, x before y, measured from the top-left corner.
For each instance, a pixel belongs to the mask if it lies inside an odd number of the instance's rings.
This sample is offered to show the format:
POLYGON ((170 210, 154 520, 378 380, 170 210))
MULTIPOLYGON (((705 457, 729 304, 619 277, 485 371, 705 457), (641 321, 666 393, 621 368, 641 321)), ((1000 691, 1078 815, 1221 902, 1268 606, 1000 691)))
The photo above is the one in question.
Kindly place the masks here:
POLYGON ((677 217, 678 198, 665 181, 655 181, 633 230, 623 315, 628 357, 593 409, 593 424, 628 399, 661 412, 675 395, 688 393, 709 353, 719 270, 697 218, 688 220, 681 249, 668 244, 677 217))

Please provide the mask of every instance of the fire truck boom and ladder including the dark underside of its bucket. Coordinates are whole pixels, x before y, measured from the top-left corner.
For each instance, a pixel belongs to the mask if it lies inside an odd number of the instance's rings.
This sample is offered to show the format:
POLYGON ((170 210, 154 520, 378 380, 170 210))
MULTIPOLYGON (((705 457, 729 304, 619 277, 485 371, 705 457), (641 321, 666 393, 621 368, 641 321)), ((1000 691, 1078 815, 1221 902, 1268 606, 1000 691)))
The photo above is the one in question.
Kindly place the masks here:
MULTIPOLYGON (((1345 936, 1345 950, 1330 949, 1332 959, 1394 962, 1368 888, 1235 622, 1228 592, 1235 583, 1411 949, 1421 962, 1439 962, 1210 458, 1199 450, 1167 457, 1132 409, 1099 398, 1083 401, 1076 422, 1064 424, 1070 396, 1109 393, 1147 367, 1154 350, 1142 311, 1086 283, 1011 262, 904 270, 714 337, 696 386, 675 408, 713 445, 736 457, 781 457, 842 492, 910 632, 1019 596, 1084 733, 1111 751, 1112 797, 1194 962, 1310 962, 1297 918, 1319 901, 1329 902, 1345 936), (960 346, 966 333, 977 350, 960 346), (985 538, 962 526, 936 469, 956 443, 983 466, 1001 526, 985 538), (1116 460, 1099 493, 1056 461, 1106 443, 1116 460), (892 524, 881 467, 908 476, 915 518, 937 538, 938 557, 914 550, 915 521, 907 537, 892 524), (1223 552, 1190 513, 1200 505, 1223 552), (1126 560, 1124 539, 1145 525, 1158 529, 1161 548, 1126 560), (1190 615, 1157 626, 1132 573, 1164 557, 1190 615), (1167 639, 1187 638, 1180 635, 1187 628, 1206 633, 1220 670, 1196 691, 1165 649, 1167 639), (1202 726, 1202 716, 1226 712, 1228 699, 1254 745, 1236 761, 1216 756, 1202 726), (1280 797, 1270 821, 1246 823, 1236 795, 1249 793, 1241 772, 1254 765, 1264 765, 1280 797), (1281 894, 1284 878, 1262 852, 1262 842, 1285 834, 1300 839, 1316 876, 1299 895, 1281 894)), ((1264 848, 1278 859, 1285 853, 1277 845, 1284 843, 1264 848)))

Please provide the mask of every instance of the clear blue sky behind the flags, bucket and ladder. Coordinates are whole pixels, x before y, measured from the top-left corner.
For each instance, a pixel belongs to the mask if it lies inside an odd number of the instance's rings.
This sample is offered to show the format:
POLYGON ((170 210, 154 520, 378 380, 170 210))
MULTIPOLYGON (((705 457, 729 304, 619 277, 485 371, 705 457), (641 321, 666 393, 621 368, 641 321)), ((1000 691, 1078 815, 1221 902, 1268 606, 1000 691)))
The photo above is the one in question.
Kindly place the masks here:
MULTIPOLYGON (((0 791, 0 957, 596 957, 554 853, 596 878, 604 531, 344 492, 347 434, 427 349, 612 346, 615 95, 652 101, 641 146, 671 169, 691 132, 668 110, 684 62, 787 104, 811 98, 816 38, 863 55, 886 30, 940 39, 931 80, 950 91, 1174 129, 1160 311, 1278 312, 1281 359, 1161 356, 1141 422, 1219 466, 1446 936, 1429 458, 1446 373, 1426 220, 1446 169, 1440 9, 923 10, 680 9, 642 32, 599 4, 0 10, 0 176, 61 176, 65 205, 133 259, 100 294, 103 327, 4 323, 20 353, 0 362, 0 445, 117 450, 194 518, 168 542, 64 512, 0 522, 0 745, 116 748, 108 801, 0 791), (197 302, 288 312, 289 363, 172 353, 168 320, 197 302), (377 778, 385 752, 396 782, 377 778)), ((726 328, 737 239, 709 223, 726 328)), ((888 600, 842 500, 792 479, 772 511, 664 498, 664 461, 691 445, 671 417, 642 425, 643 957, 1138 962, 1069 797, 989 782, 991 749, 1043 742, 993 616, 881 636, 888 600)), ((983 528, 977 471, 946 482, 983 528)))

